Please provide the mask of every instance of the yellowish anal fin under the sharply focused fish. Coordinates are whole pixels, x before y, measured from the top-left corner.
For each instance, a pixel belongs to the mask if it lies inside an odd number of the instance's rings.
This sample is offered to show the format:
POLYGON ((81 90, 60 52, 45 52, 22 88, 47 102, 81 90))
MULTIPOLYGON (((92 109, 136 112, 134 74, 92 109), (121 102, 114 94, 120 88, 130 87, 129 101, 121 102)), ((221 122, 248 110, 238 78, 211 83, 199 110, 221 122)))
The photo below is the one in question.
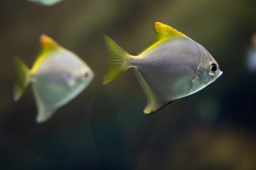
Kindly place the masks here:
POLYGON ((150 86, 146 82, 146 80, 143 78, 141 73, 137 68, 134 68, 135 76, 137 77, 139 83, 141 84, 141 87, 143 88, 143 91, 145 92, 147 96, 147 106, 143 110, 145 114, 150 114, 153 112, 156 112, 166 106, 167 104, 171 102, 167 102, 165 99, 158 97, 154 91, 151 90, 150 86))

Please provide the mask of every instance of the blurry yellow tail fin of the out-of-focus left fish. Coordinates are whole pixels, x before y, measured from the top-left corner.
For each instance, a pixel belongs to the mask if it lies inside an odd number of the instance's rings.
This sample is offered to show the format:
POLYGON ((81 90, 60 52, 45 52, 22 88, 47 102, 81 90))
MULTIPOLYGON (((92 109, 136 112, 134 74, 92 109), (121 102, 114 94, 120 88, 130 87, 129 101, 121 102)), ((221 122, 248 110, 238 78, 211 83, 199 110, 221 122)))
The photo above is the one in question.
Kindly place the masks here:
POLYGON ((14 65, 15 83, 13 88, 13 100, 18 101, 30 83, 30 69, 18 57, 15 57, 14 65))

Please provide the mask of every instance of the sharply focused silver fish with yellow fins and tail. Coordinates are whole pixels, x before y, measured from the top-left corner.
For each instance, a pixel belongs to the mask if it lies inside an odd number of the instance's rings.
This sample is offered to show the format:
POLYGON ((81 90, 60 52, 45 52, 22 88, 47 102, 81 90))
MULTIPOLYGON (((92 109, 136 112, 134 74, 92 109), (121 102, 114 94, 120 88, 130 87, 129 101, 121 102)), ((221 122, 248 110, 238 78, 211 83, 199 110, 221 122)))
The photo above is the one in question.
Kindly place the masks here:
POLYGON ((147 97, 144 114, 196 93, 223 73, 210 53, 194 40, 161 22, 154 22, 153 28, 156 36, 135 56, 104 35, 107 67, 102 84, 133 68, 147 97))

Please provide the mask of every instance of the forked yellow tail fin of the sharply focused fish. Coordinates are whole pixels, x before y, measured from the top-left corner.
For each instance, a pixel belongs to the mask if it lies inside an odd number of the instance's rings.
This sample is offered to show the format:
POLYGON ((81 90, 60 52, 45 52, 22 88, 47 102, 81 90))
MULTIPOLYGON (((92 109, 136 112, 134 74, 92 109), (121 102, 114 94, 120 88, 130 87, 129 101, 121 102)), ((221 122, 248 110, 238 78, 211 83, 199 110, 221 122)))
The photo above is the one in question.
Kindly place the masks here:
POLYGON ((130 68, 129 60, 131 55, 106 35, 104 35, 104 41, 108 51, 108 58, 107 71, 102 84, 108 84, 130 68))

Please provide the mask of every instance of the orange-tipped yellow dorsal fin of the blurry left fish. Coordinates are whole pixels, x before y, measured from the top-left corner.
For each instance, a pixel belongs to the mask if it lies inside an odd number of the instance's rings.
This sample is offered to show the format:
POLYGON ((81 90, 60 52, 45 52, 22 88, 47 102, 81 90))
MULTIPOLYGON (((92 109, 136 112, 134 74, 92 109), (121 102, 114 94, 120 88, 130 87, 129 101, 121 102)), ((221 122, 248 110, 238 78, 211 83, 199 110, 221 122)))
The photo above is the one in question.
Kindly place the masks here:
POLYGON ((42 34, 40 36, 39 42, 41 44, 41 49, 39 51, 39 54, 37 55, 37 58, 35 59, 32 71, 36 71, 39 64, 45 59, 45 57, 47 57, 47 53, 61 48, 61 46, 57 42, 55 42, 52 38, 48 37, 45 34, 42 34))

